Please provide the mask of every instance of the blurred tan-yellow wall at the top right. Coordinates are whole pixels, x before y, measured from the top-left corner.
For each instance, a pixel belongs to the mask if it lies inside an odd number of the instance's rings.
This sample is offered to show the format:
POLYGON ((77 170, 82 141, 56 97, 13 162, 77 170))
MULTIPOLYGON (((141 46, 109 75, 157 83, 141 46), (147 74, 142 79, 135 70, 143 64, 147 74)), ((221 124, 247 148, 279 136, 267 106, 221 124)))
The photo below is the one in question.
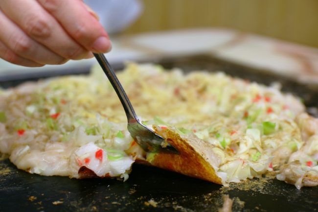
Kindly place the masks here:
POLYGON ((227 27, 318 47, 318 0, 142 0, 123 34, 227 27))

